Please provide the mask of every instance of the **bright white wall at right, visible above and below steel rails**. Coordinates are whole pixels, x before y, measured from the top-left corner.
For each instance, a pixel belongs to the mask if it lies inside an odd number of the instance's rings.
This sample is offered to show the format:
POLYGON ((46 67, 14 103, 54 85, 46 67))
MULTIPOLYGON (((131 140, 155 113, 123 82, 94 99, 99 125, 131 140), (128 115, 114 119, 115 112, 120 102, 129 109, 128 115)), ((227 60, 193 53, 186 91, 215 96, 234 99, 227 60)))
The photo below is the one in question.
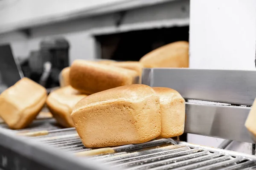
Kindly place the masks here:
MULTIPOLYGON (((190 0, 190 67, 255 69, 256 0, 190 0)), ((189 134, 188 141, 217 147, 223 139, 189 134)), ((251 154, 251 144, 229 149, 251 154)))

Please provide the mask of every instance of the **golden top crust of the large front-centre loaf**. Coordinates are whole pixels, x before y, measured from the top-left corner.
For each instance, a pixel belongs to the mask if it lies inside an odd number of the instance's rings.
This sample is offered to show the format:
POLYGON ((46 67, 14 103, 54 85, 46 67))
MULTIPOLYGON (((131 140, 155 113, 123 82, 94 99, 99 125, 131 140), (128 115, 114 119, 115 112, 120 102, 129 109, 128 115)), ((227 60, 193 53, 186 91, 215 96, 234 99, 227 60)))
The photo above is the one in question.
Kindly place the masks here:
POLYGON ((90 108, 105 103, 118 101, 138 102, 152 95, 157 96, 156 92, 148 85, 133 84, 111 88, 81 99, 76 104, 73 113, 83 108, 90 108))

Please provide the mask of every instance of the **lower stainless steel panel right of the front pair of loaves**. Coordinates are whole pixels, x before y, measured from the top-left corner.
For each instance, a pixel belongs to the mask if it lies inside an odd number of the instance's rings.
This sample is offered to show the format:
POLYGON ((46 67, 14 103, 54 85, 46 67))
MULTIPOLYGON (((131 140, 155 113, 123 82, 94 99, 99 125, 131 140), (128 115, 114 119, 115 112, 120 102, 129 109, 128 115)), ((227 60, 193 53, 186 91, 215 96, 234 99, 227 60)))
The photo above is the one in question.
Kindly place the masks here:
POLYGON ((244 126, 250 108, 186 103, 185 132, 254 143, 244 126))

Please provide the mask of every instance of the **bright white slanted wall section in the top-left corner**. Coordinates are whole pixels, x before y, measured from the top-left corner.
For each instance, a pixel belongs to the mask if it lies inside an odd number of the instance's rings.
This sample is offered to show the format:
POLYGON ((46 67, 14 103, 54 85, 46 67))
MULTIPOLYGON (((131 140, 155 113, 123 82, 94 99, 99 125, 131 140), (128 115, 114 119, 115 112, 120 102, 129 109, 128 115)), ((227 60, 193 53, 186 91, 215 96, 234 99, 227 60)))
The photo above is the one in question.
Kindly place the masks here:
POLYGON ((2 0, 0 29, 38 20, 49 20, 122 1, 127 0, 2 0))

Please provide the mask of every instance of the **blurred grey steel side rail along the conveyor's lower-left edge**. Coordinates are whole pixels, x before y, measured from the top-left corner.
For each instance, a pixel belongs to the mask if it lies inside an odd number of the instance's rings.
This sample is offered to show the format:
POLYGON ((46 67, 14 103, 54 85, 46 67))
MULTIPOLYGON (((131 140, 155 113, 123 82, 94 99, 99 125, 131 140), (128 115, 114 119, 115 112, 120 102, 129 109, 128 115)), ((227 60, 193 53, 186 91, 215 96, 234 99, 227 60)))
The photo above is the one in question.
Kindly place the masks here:
MULTIPOLYGON (((15 131, 15 130, 13 130, 15 131)), ((23 136, 17 136, 15 133, 9 133, 0 127, 0 146, 9 148, 13 152, 18 153, 27 159, 40 162, 54 170, 113 170, 102 166, 95 161, 79 160, 71 153, 64 150, 58 150, 42 142, 34 141, 23 136)), ((8 160, 16 159, 8 158, 8 160)), ((20 161, 17 159, 17 161, 20 161)), ((12 163, 12 161, 10 161, 12 163)), ((1 160, 0 160, 1 163, 1 160)), ((15 162, 14 162, 15 163, 15 162)), ((20 168, 20 167, 19 167, 20 168)))

